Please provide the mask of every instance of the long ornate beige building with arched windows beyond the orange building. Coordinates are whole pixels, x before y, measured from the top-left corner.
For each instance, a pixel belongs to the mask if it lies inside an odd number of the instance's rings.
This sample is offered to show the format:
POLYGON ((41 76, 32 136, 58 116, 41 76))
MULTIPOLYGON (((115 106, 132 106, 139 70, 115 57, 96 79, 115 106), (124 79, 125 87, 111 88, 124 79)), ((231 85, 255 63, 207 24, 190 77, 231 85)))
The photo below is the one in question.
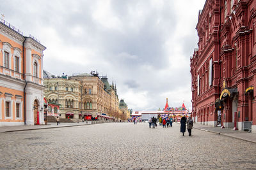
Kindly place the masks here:
POLYGON ((70 76, 52 76, 45 71, 45 97, 61 104, 61 118, 82 118, 107 116, 120 118, 116 87, 109 85, 106 76, 99 77, 94 71, 70 76))

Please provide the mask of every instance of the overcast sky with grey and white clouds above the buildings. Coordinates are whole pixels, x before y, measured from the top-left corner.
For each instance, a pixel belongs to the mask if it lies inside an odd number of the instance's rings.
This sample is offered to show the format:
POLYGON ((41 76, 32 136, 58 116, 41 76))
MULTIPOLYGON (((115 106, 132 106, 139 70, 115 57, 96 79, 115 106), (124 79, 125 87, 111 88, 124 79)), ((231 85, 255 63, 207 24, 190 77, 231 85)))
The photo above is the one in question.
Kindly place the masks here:
POLYGON ((189 58, 205 0, 0 0, 5 20, 40 39, 44 69, 97 70, 133 110, 191 108, 189 58))

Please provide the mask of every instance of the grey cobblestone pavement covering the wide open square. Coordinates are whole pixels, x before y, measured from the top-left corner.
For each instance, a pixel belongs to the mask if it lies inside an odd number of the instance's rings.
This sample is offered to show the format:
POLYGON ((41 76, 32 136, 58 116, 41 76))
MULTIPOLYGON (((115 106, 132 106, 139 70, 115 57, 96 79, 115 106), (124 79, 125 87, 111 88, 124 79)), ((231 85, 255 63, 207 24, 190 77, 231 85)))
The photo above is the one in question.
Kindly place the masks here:
POLYGON ((0 169, 256 169, 256 144, 179 124, 108 123, 0 134, 0 169))

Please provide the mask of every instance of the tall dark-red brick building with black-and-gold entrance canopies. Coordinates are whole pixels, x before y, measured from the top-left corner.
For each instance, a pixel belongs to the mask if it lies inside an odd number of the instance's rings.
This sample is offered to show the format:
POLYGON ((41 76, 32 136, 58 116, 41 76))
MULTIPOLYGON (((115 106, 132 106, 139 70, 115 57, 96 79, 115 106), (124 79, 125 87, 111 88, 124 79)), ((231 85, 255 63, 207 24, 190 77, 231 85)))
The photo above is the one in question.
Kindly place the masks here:
POLYGON ((207 0, 191 57, 196 122, 256 131, 256 2, 207 0), (237 115, 237 116, 236 116, 237 115))

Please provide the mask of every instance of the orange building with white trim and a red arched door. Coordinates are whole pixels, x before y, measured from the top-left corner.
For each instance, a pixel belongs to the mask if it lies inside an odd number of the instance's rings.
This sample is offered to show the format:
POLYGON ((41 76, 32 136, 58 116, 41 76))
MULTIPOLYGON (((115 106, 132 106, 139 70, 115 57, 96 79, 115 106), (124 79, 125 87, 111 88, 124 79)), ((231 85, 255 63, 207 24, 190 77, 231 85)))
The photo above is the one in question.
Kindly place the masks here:
POLYGON ((0 20, 0 126, 44 124, 44 50, 0 20))

